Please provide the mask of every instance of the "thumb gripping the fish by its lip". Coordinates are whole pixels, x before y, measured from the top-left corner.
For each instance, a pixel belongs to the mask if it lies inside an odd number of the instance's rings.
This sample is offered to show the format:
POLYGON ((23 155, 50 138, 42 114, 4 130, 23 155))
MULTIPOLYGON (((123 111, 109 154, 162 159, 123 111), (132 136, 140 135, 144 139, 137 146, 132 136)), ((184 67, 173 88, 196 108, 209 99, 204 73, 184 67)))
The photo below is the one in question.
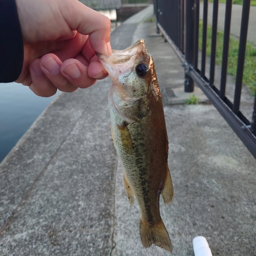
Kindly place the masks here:
POLYGON ((95 52, 110 56, 112 49, 110 45, 111 22, 108 17, 83 5, 77 0, 60 0, 63 18, 66 20, 71 30, 89 35, 90 45, 95 52))

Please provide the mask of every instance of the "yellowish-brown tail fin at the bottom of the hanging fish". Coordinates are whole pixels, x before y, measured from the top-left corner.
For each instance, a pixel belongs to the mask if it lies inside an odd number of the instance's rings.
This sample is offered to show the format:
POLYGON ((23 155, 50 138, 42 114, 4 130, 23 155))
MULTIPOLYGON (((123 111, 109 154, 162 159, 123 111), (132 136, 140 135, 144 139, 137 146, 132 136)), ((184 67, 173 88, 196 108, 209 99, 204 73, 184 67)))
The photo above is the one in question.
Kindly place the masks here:
POLYGON ((172 242, 170 242, 168 232, 162 220, 155 226, 150 226, 148 223, 140 220, 140 238, 144 247, 155 244, 167 251, 173 251, 172 242))

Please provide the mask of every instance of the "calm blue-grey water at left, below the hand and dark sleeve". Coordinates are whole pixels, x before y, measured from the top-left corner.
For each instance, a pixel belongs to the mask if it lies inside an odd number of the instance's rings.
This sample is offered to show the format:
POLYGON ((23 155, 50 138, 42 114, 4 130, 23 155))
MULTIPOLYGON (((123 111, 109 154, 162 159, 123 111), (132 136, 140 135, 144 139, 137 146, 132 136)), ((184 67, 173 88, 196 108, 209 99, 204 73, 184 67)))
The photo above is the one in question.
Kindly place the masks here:
POLYGON ((22 84, 0 83, 0 162, 55 97, 39 97, 22 84))

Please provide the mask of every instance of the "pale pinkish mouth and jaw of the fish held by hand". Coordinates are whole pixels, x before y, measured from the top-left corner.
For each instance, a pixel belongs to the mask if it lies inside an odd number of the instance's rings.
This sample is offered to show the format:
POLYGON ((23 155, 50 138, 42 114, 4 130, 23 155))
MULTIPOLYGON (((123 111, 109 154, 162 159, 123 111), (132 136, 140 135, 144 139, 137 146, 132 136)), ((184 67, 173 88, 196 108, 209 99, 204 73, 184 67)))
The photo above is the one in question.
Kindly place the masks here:
POLYGON ((121 89, 121 85, 118 82, 119 75, 129 75, 134 69, 137 56, 143 51, 147 52, 145 48, 145 40, 139 39, 132 46, 127 47, 124 50, 113 50, 112 55, 109 57, 99 53, 96 53, 96 55, 106 72, 109 73, 111 79, 118 88, 121 89))

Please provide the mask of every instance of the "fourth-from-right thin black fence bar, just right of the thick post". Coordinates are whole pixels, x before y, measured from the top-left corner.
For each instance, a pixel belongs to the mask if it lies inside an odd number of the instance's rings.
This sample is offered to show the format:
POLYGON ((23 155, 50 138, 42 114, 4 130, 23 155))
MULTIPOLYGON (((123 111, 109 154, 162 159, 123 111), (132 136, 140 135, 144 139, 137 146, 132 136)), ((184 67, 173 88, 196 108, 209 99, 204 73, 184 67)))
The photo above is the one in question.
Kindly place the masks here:
POLYGON ((206 59, 206 40, 207 40, 207 17, 208 17, 208 0, 204 0, 203 10, 203 36, 202 36, 202 60, 201 60, 201 76, 205 76, 205 59, 206 59))

